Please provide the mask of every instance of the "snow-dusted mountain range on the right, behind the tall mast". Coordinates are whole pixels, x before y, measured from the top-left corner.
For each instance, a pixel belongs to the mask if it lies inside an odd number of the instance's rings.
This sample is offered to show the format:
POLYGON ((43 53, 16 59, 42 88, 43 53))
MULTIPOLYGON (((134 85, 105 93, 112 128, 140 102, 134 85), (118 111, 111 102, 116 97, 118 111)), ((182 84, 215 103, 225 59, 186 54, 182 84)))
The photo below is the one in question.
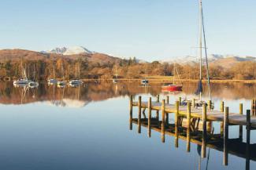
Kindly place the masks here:
MULTIPOLYGON (((256 57, 254 56, 235 56, 235 55, 217 55, 211 54, 208 56, 208 62, 213 63, 217 62, 217 60, 236 60, 236 61, 256 61, 256 57)), ((202 57, 202 61, 205 62, 206 58, 202 57)), ((173 57, 169 60, 161 60, 160 63, 180 63, 180 64, 193 64, 198 63, 199 58, 198 56, 180 56, 180 57, 173 57)))

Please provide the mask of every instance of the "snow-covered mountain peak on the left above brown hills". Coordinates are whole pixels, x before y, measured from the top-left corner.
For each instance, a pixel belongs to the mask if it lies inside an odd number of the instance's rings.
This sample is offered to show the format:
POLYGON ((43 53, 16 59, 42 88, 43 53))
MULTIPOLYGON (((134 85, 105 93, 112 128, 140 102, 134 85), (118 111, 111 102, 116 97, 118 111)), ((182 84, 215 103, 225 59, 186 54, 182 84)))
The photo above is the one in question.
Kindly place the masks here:
POLYGON ((43 53, 56 53, 63 55, 74 55, 80 53, 89 53, 92 54, 90 50, 84 48, 83 46, 73 46, 73 47, 57 47, 55 49, 43 51, 43 53))

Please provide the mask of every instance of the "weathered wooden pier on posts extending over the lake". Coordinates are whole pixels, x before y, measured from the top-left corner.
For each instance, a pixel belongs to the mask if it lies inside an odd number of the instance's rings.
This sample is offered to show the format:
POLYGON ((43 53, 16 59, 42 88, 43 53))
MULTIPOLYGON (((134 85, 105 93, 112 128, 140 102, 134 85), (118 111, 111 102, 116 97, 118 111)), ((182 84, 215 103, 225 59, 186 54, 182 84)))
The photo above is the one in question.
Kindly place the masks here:
POLYGON ((151 130, 161 132, 161 141, 165 143, 165 135, 174 136, 175 146, 179 146, 179 139, 187 141, 187 152, 190 151, 191 143, 202 146, 201 156, 206 157, 206 147, 221 150, 224 153, 223 164, 228 165, 228 154, 246 158, 246 169, 250 169, 250 160, 256 161, 256 144, 250 144, 250 131, 256 129, 255 114, 256 100, 252 100, 251 111, 247 110, 243 114, 243 103, 239 104, 239 113, 229 113, 228 107, 224 107, 221 102, 220 110, 212 110, 212 102, 202 104, 202 107, 195 107, 195 99, 187 106, 181 106, 181 99, 176 103, 169 103, 169 96, 159 102, 159 96, 152 102, 142 101, 139 96, 138 101, 130 97, 130 129, 132 124, 138 125, 138 132, 141 133, 141 126, 148 128, 148 136, 151 130), (133 107, 138 107, 138 117, 133 118, 133 107), (146 115, 147 110, 147 115, 146 115), (156 111, 152 117, 152 110, 156 111), (159 118, 161 112, 161 120, 159 118), (174 114, 174 122, 169 123, 169 114, 174 114), (143 118, 142 118, 143 115, 143 118), (219 121, 221 132, 213 133, 212 123, 219 121), (238 137, 228 139, 228 126, 239 125, 238 137), (243 142, 243 126, 246 126, 247 140, 243 142))

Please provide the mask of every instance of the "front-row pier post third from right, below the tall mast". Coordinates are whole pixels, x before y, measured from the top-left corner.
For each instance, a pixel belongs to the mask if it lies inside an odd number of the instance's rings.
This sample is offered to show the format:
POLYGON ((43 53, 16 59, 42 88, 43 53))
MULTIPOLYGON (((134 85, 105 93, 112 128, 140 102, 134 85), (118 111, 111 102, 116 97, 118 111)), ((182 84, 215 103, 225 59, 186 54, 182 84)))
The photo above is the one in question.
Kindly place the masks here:
POLYGON ((202 158, 206 157, 206 136, 207 136, 207 129, 206 129, 206 121, 207 121, 207 115, 206 115, 206 103, 202 104, 202 158))

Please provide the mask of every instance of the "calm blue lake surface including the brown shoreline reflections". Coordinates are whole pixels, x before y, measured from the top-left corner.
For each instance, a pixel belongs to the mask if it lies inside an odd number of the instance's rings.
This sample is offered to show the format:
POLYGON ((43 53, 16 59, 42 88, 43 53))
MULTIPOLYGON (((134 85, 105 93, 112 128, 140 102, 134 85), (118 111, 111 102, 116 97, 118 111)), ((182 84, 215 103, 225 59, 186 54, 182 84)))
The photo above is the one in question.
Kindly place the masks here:
MULTIPOLYGON (((196 85, 185 84, 179 93, 161 92, 161 84, 141 87, 136 83, 87 83, 78 88, 58 89, 40 85, 38 89, 13 88, 11 82, 0 84, 0 168, 1 169, 246 169, 246 159, 228 154, 228 166, 223 165, 223 152, 208 149, 201 159, 198 146, 179 140, 176 148, 173 136, 165 136, 147 128, 137 132, 137 125, 129 129, 128 96, 143 99, 159 93, 173 102, 178 96, 193 97, 196 85), (207 158, 208 157, 208 158, 207 158)), ((204 88, 206 89, 206 87, 204 88)), ((250 99, 256 96, 256 85, 214 84, 213 102, 220 101, 244 113, 250 99)), ((207 92, 204 94, 207 99, 207 92)), ((137 116, 137 110, 133 110, 137 116)), ((173 117, 169 118, 173 121, 173 117)), ((219 124, 213 124, 215 132, 219 124)), ((229 128, 229 138, 238 137, 238 126, 229 128)), ((246 141, 243 128, 243 142, 246 141)), ((256 143, 256 132, 251 132, 256 143)), ((256 150, 251 150, 256 152, 256 150)), ((256 160, 254 158, 254 160, 256 160)), ((256 169, 256 161, 250 161, 256 169)))

